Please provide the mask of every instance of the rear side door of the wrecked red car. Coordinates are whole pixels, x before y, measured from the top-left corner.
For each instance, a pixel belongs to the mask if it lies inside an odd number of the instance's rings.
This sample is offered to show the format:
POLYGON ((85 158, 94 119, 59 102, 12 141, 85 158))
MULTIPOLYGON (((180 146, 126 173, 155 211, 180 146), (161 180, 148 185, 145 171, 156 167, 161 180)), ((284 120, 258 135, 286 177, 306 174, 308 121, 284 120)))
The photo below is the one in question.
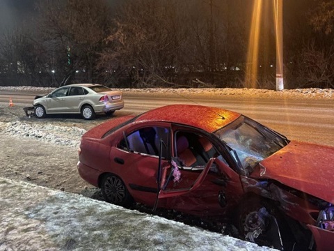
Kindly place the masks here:
POLYGON ((141 126, 125 132, 111 160, 118 176, 138 202, 153 206, 157 199, 157 176, 161 143, 161 166, 170 165, 170 129, 168 125, 141 126))

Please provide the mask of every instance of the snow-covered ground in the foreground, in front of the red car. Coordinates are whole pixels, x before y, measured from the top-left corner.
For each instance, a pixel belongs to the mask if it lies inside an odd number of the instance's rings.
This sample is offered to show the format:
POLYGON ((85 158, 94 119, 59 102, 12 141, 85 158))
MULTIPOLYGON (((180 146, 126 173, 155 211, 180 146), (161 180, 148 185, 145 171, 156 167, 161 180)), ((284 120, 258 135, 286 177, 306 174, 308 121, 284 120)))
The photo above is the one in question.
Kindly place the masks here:
POLYGON ((6 178, 0 195, 0 250, 273 250, 6 178))

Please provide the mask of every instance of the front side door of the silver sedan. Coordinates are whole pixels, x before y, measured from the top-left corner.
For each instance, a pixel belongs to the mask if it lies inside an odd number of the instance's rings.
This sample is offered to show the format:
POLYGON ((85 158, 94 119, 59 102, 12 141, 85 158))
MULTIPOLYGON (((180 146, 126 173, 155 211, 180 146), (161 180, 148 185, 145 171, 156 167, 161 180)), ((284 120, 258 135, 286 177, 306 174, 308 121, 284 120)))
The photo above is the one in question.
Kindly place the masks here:
POLYGON ((64 86, 63 88, 57 89, 49 95, 47 98, 47 113, 64 113, 67 110, 66 107, 66 96, 69 87, 64 86))

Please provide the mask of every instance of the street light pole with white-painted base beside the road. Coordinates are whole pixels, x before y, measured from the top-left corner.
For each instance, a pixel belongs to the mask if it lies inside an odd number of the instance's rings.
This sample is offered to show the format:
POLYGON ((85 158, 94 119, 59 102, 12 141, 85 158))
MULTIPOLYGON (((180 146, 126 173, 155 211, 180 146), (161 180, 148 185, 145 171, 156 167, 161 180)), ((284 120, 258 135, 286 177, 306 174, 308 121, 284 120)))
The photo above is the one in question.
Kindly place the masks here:
POLYGON ((283 79, 283 0, 274 0, 276 30, 276 91, 284 89, 283 79))

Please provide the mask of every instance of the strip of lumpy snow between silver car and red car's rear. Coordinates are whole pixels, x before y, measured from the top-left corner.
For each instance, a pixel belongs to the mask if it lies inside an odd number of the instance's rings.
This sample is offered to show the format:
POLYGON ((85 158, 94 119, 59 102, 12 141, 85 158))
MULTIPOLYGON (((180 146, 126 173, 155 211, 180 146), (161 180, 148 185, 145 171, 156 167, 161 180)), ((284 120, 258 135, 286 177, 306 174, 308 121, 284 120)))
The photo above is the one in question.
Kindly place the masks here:
POLYGON ((15 137, 29 137, 51 144, 77 148, 80 143, 80 138, 84 135, 86 130, 75 126, 54 126, 51 123, 31 125, 20 121, 8 123, 0 121, 0 132, 15 137))

